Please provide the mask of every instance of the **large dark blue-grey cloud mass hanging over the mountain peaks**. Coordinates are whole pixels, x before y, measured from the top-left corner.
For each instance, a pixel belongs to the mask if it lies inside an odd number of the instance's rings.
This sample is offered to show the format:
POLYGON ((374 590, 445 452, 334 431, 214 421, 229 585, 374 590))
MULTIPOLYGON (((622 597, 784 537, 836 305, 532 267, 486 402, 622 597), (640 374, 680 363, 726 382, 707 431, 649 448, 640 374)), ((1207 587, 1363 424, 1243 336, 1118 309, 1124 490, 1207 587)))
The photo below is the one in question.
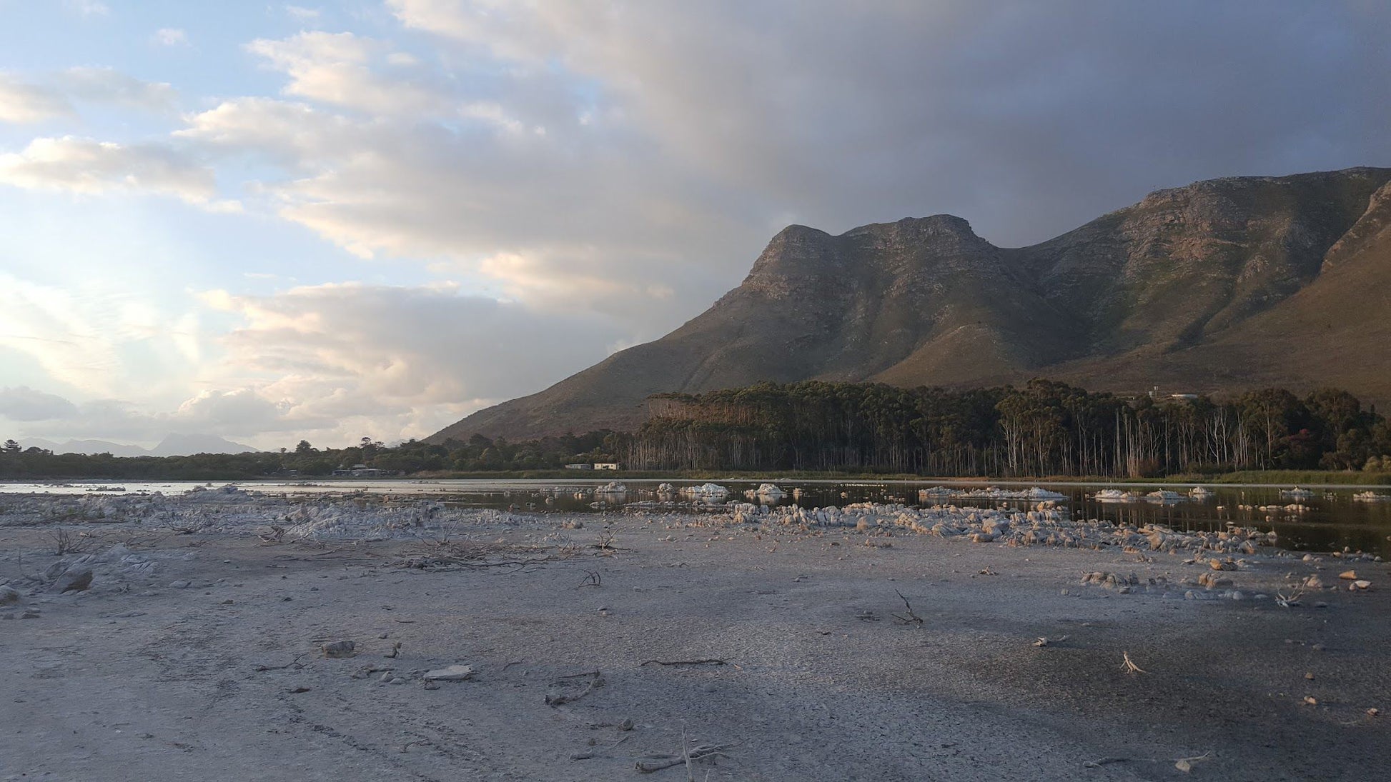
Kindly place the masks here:
POLYGON ((832 231, 953 213, 1020 243, 1159 186, 1387 163, 1372 4, 388 7, 460 53, 593 79, 665 154, 832 231))

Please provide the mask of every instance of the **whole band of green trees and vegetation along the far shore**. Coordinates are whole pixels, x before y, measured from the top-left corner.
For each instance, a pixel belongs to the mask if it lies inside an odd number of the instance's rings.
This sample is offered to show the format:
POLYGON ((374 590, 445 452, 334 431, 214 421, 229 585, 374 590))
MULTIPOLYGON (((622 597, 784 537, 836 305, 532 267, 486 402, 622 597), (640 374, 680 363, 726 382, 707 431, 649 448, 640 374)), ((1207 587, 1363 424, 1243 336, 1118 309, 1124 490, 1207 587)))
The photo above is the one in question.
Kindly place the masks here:
POLYGON ((118 458, 0 446, 0 479, 317 478, 366 465, 421 478, 595 478, 566 464, 618 461, 625 476, 1050 478, 1367 483, 1391 479, 1391 425, 1341 390, 1227 400, 1124 399, 1050 381, 950 392, 878 383, 759 383, 657 394, 634 433, 509 443, 369 438, 346 449, 118 458))

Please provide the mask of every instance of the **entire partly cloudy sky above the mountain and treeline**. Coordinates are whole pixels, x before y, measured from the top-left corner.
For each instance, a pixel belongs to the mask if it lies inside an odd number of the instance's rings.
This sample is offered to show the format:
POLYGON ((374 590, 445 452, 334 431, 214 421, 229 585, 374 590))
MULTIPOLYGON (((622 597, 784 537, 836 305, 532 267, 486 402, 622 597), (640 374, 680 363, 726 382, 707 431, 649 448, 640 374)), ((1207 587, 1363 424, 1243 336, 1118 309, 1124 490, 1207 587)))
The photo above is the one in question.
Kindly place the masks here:
POLYGON ((0 0, 0 438, 423 438, 787 224, 1391 165, 1372 0, 0 0))

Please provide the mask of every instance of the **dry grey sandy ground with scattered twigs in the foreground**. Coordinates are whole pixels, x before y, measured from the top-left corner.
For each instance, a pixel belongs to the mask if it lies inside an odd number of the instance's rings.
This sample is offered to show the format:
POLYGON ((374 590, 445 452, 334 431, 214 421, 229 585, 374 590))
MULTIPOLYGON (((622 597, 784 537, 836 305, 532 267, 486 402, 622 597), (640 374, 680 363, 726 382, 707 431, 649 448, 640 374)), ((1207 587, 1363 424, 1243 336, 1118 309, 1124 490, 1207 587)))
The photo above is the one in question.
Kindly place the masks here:
POLYGON ((694 779, 1387 778, 1384 564, 1349 593, 1341 560, 1246 557, 1221 574, 1244 599, 1185 599, 1213 596, 1182 554, 711 524, 480 514, 445 544, 106 524, 95 553, 135 564, 67 594, 39 585, 53 526, 0 526, 22 593, 0 779, 645 779, 683 736, 725 746, 694 779), (1331 586, 1276 604, 1310 574, 1331 586), (473 678, 426 685, 451 664, 473 678))

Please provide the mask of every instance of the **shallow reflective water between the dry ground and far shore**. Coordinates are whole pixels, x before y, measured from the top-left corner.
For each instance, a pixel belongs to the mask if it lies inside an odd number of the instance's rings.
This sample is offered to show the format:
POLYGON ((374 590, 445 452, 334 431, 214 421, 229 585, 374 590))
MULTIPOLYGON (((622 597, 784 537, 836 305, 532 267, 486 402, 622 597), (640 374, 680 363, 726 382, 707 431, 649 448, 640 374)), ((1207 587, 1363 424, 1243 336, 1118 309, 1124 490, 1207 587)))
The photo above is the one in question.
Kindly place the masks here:
MULTIPOLYGON (((690 486, 700 481, 669 481, 672 485, 690 486)), ((498 510, 534 510, 566 513, 602 513, 637 503, 657 503, 657 486, 661 481, 623 481, 629 488, 623 494, 600 494, 593 492, 605 483, 602 479, 576 481, 401 481, 401 479, 356 479, 323 482, 243 482, 248 490, 277 494, 316 494, 367 492, 380 494, 435 496, 451 504, 498 510)), ((918 490, 933 486, 960 489, 982 488, 983 483, 943 483, 936 481, 787 481, 779 483, 786 492, 780 499, 748 499, 746 490, 757 489, 758 481, 718 481, 730 490, 726 501, 759 501, 762 504, 800 504, 803 507, 846 506, 849 503, 901 503, 954 504, 958 507, 1024 506, 1031 500, 995 500, 981 497, 925 497, 919 500, 918 490), (800 489, 800 494, 793 490, 800 489)), ((1184 499, 1160 503, 1149 499, 1135 501, 1100 501, 1096 492, 1107 488, 1121 488, 1136 494, 1157 489, 1187 493, 1192 486, 1175 485, 1114 485, 1114 483, 999 483, 1008 489, 1040 486, 1064 494, 1059 500, 1079 518, 1100 518, 1118 524, 1164 524, 1184 531, 1219 531, 1227 524, 1274 529, 1278 544, 1294 550, 1330 551, 1348 549, 1351 551, 1372 551, 1391 557, 1391 501, 1353 500, 1358 492, 1367 486, 1337 486, 1313 489, 1308 499, 1281 496, 1281 486, 1220 486, 1209 485, 1213 492, 1206 497, 1184 499), (1306 510, 1284 510, 1298 504, 1306 510), (1281 510, 1259 510, 1262 507, 1281 510), (1246 510, 1249 508, 1249 510, 1246 510)), ((127 482, 127 483, 0 483, 0 493, 46 493, 46 494, 139 494, 163 492, 182 494, 211 483, 195 481, 127 482)), ((1288 486, 1284 486, 1288 489, 1288 486)), ((1373 488, 1381 494, 1391 494, 1388 488, 1373 488)), ((682 499, 684 500, 684 499, 682 499)), ((684 504, 657 504, 657 508, 691 507, 684 504)))

